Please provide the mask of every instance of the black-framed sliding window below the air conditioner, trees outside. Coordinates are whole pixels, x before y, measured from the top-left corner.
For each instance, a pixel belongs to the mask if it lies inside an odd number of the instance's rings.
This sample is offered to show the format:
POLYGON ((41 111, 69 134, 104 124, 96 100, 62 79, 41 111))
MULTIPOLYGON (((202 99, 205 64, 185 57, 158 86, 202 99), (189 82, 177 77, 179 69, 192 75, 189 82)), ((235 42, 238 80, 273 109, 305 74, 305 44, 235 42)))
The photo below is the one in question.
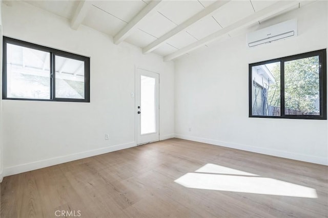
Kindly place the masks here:
POLYGON ((326 50, 249 64, 249 117, 326 120, 326 50))

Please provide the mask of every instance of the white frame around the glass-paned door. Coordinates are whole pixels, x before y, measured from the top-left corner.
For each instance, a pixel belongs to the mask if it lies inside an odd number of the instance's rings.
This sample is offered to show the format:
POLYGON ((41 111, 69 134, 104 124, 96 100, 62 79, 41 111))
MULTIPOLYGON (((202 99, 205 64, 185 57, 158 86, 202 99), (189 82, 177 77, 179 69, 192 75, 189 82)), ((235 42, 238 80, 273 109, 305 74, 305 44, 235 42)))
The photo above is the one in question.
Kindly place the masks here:
POLYGON ((155 71, 152 71, 152 70, 147 70, 143 67, 140 67, 140 66, 134 66, 134 140, 135 140, 135 145, 138 146, 138 145, 143 145, 143 144, 148 144, 148 143, 151 143, 151 142, 156 142, 156 141, 160 141, 160 74, 155 72, 155 71), (140 70, 144 70, 144 71, 148 71, 148 72, 151 72, 151 73, 155 73, 155 74, 158 74, 158 140, 155 140, 155 141, 151 141, 151 142, 146 142, 146 143, 141 143, 141 144, 138 144, 138 102, 137 102, 137 88, 138 88, 138 69, 140 70))

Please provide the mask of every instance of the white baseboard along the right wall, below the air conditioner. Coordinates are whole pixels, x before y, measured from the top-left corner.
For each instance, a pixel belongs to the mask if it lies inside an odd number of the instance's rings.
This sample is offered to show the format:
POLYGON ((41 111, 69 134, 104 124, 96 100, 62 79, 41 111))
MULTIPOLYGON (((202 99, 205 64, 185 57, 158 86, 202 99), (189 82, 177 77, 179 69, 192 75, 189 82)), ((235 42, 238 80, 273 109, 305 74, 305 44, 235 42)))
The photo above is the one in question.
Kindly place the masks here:
POLYGON ((321 158, 321 157, 316 157, 316 156, 302 155, 302 154, 286 152, 286 151, 282 151, 282 150, 255 147, 255 146, 251 146, 251 145, 223 142, 223 141, 218 141, 218 140, 214 140, 214 139, 206 139, 206 138, 185 136, 185 135, 179 135, 179 134, 175 134, 175 138, 186 139, 186 140, 190 140, 190 141, 202 142, 202 143, 207 143, 207 144, 213 144, 213 145, 218 145, 218 146, 222 146, 222 147, 235 148, 235 149, 239 149, 239 150, 246 150, 246 151, 251 151, 251 152, 255 152, 255 153, 259 153, 259 154, 263 154, 263 155, 271 155, 271 156, 276 156, 276 157, 280 157, 280 158, 288 158, 288 159, 305 161, 305 162, 310 162, 310 163, 315 163, 315 164, 328 165, 327 158, 321 158))

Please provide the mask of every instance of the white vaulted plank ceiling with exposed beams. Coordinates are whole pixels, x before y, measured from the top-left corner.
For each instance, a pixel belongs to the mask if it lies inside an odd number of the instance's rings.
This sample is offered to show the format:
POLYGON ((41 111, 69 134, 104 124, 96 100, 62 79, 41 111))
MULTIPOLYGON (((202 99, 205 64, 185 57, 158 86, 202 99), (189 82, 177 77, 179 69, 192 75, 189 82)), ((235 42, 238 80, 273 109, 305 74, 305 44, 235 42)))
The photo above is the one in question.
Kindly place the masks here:
POLYGON ((304 1, 26 1, 172 60, 237 30, 299 8, 304 1))

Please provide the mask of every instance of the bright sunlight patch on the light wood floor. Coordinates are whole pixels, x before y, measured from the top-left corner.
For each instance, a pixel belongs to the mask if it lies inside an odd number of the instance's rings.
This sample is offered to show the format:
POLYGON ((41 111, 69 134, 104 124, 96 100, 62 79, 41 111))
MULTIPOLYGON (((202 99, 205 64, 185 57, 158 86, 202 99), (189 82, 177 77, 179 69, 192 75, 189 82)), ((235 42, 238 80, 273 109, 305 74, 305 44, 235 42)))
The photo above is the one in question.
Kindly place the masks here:
POLYGON ((258 177, 252 173, 215 164, 206 164, 195 172, 186 173, 174 182, 187 188, 318 198, 317 192, 313 188, 272 178, 258 177))

